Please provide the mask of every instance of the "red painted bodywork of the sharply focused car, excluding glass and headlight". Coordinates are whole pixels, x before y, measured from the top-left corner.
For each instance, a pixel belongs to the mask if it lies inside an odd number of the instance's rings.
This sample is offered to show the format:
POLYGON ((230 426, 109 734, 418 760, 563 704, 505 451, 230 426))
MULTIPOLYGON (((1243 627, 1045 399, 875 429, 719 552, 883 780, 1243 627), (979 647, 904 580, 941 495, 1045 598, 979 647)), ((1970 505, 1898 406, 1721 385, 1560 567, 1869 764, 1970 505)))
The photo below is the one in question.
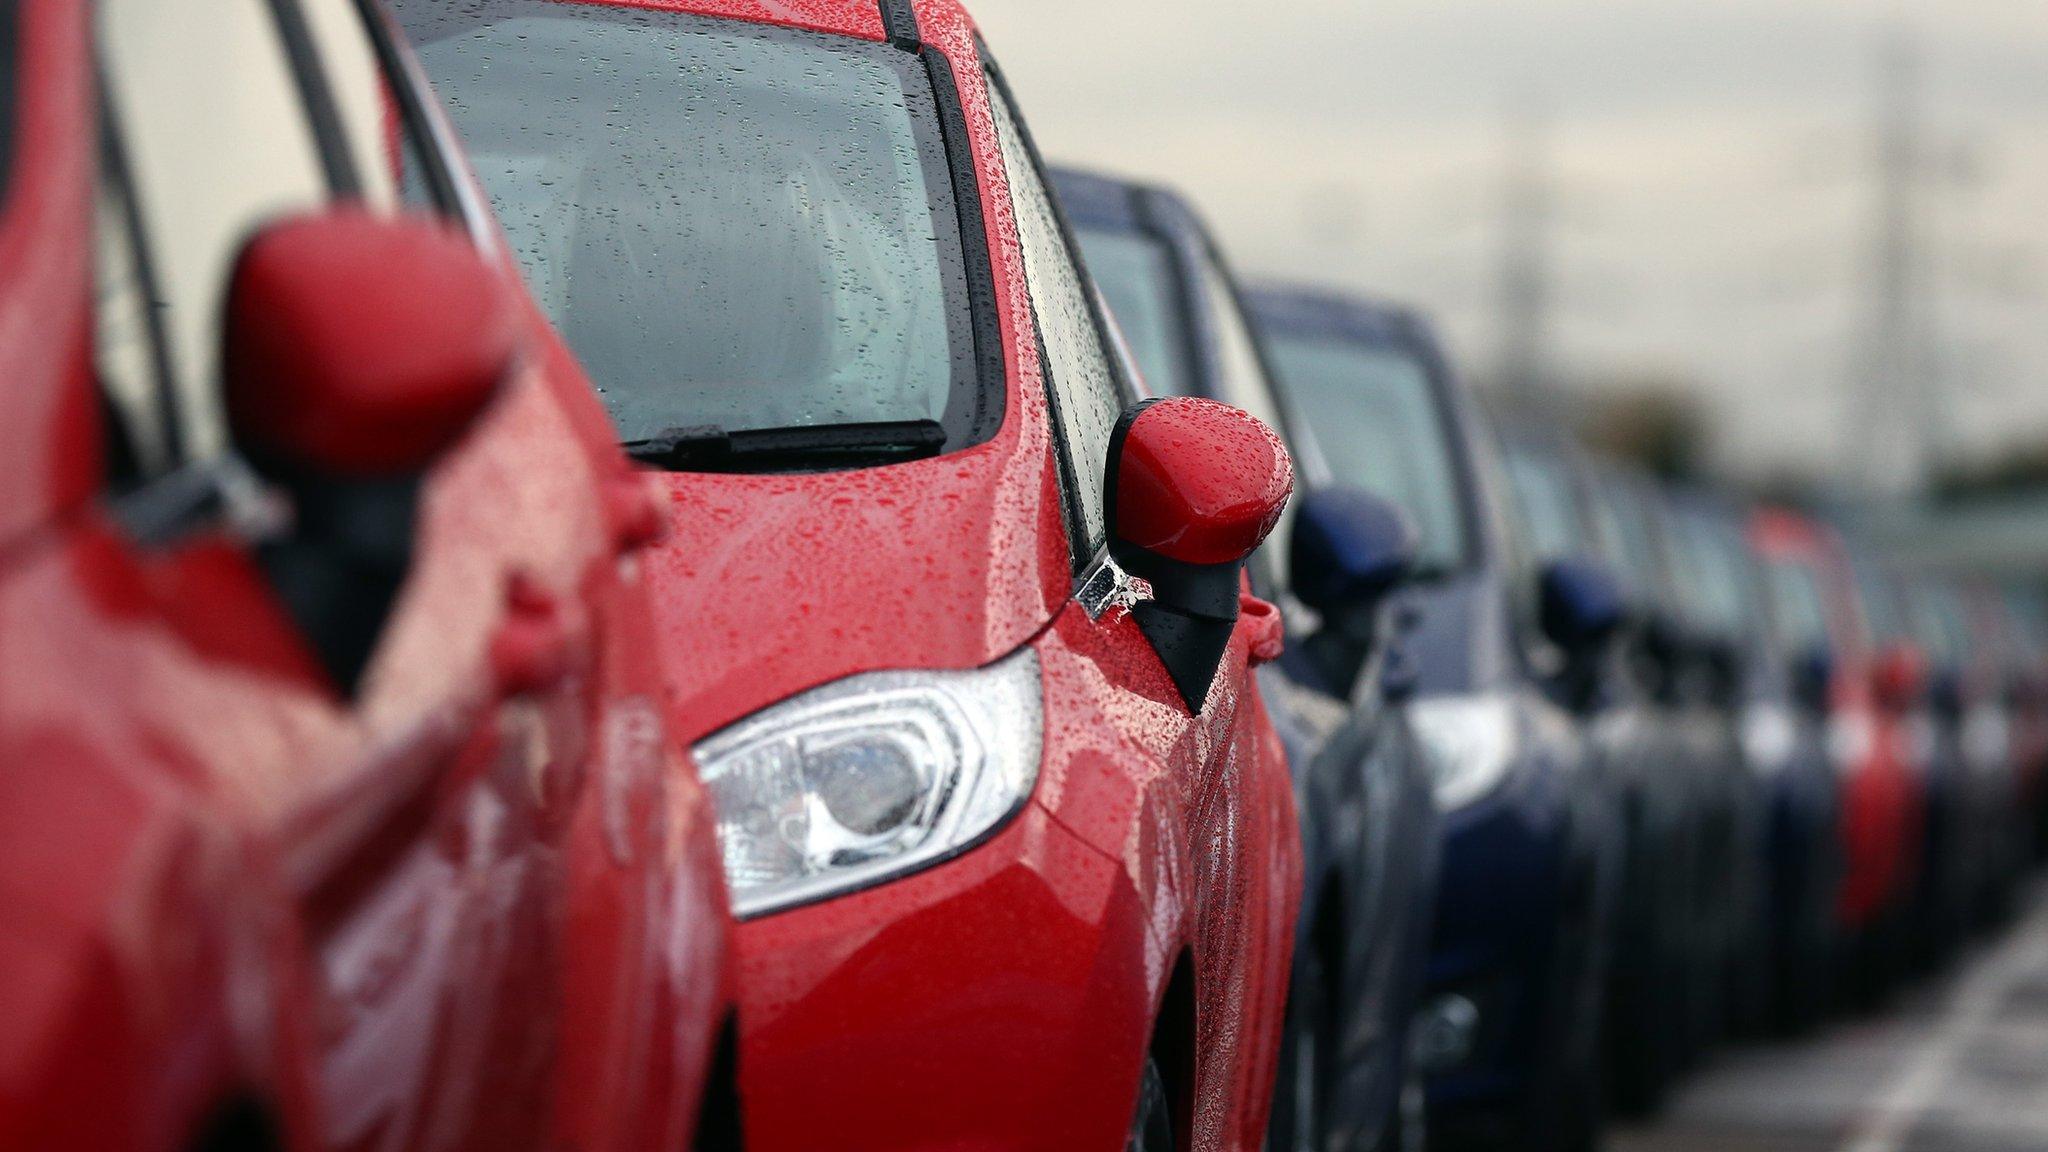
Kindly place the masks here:
MULTIPOLYGON (((889 39, 872 0, 625 6, 889 39)), ((946 863, 739 927, 748 1142, 1120 1148, 1153 1054, 1184 1140, 1260 1148, 1300 867, 1286 765, 1245 672, 1270 609, 1243 615, 1190 715, 1133 615, 1083 607, 977 35, 950 0, 897 8, 958 78, 1004 420, 887 467, 664 476, 674 531, 647 570, 670 719, 702 740, 858 672, 1030 648, 1042 763, 1016 816, 946 863)))

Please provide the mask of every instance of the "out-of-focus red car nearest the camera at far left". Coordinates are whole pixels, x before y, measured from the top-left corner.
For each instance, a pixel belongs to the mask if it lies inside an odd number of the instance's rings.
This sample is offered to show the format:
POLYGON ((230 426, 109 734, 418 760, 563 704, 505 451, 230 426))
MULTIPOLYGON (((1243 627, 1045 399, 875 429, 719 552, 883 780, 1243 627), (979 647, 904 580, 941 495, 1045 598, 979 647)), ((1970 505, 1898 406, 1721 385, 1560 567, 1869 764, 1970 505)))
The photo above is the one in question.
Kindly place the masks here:
POLYGON ((684 1148, 731 1000, 657 494, 389 27, 0 53, 0 1148, 684 1148))

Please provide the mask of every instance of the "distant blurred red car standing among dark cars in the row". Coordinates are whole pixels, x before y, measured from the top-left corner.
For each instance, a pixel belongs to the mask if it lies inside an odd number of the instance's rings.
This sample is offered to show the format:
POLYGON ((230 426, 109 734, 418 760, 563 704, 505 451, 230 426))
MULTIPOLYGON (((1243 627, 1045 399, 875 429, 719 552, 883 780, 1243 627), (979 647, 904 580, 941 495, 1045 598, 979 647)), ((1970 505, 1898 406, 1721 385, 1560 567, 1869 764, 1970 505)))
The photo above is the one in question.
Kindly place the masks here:
POLYGON ((1913 734, 1903 715, 1878 705, 1878 654, 1841 541, 1782 510, 1757 512, 1751 541, 1767 564, 1806 570, 1827 611, 1829 754, 1841 779, 1839 916, 1843 929, 1862 931, 1892 912, 1915 879, 1921 814, 1913 734))

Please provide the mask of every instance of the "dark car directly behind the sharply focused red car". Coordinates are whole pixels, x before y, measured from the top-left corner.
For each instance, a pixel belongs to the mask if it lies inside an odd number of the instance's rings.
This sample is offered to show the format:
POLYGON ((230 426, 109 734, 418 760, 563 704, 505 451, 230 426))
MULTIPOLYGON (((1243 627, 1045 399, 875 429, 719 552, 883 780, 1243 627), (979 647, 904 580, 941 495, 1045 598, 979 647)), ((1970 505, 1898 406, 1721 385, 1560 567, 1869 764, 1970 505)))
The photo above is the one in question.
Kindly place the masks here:
MULTIPOLYGON (((1300 808, 1303 904, 1270 1146, 1409 1148, 1421 1084, 1409 1031, 1436 906, 1432 771, 1382 691, 1384 601, 1413 533, 1384 500, 1321 465, 1315 428, 1282 404, 1235 283, 1178 195, 1053 172, 1069 225, 1153 392, 1206 396, 1280 428, 1296 508, 1251 562, 1286 607, 1288 650, 1260 668, 1300 808)), ((1399 685, 1397 685, 1399 689, 1399 685)))

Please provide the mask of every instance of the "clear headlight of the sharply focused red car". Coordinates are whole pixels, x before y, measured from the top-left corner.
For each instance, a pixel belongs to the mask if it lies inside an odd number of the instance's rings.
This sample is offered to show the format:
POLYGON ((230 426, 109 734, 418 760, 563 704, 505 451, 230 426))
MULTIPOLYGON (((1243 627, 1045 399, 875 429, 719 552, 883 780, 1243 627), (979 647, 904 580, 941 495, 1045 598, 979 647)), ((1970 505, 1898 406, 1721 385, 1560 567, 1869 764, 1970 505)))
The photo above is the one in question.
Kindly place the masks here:
POLYGON ((930 867, 1038 783, 1038 654, 971 672, 868 672, 696 746, 733 914, 760 916, 930 867))

